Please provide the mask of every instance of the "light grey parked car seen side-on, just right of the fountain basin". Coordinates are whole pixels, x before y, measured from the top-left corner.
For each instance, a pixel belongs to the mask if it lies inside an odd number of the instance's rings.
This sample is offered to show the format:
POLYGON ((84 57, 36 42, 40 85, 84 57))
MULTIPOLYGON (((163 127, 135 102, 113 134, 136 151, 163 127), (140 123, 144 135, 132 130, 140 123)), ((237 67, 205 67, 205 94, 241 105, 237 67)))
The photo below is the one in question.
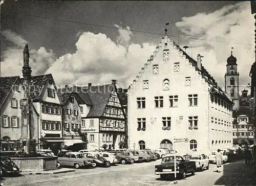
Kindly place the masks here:
POLYGON ((76 169, 80 167, 93 167, 95 164, 91 159, 87 158, 80 152, 67 152, 57 159, 57 167, 74 166, 76 169))

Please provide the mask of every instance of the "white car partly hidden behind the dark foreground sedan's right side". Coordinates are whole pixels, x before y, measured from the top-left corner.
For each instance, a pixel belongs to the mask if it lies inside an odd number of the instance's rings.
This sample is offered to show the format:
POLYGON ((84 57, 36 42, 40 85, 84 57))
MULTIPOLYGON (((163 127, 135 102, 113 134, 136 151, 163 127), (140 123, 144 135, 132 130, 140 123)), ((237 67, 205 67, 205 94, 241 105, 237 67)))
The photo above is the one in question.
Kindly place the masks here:
POLYGON ((188 154, 189 161, 196 161, 197 170, 209 169, 209 159, 204 154, 188 154))

